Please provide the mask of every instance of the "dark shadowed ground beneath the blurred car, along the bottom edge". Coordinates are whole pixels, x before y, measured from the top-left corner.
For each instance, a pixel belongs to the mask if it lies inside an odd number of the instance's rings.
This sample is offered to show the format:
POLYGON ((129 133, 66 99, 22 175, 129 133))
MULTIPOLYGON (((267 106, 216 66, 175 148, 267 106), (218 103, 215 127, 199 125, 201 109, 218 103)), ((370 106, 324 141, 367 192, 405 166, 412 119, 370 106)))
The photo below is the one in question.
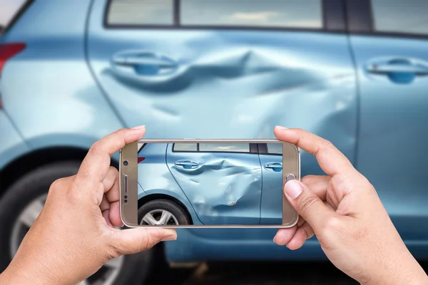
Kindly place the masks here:
MULTIPOLYGON (((428 272, 428 262, 422 262, 428 272)), ((218 262, 193 269, 153 272, 148 284, 183 285, 348 285, 358 284, 329 262, 218 262)), ((146 284, 145 284, 146 285, 146 284)))

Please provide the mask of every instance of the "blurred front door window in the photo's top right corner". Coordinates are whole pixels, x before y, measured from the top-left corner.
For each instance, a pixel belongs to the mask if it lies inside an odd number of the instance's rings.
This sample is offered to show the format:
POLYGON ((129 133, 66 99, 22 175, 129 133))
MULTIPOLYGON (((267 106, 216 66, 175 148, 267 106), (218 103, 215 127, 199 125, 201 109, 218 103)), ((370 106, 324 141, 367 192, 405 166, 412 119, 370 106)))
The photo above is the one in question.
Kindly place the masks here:
POLYGON ((427 0, 372 0, 374 31, 428 34, 427 0))

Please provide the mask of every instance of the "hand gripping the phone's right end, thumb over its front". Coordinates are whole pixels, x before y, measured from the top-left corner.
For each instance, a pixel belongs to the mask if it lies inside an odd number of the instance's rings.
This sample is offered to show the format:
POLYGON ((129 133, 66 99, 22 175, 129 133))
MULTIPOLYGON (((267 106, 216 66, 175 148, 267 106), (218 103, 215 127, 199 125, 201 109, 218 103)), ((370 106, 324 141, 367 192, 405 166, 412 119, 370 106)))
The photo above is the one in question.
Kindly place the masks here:
POLYGON ((305 130, 276 127, 275 135, 315 155, 327 174, 285 184, 300 218, 295 227, 277 232, 277 244, 298 249, 315 234, 328 259, 362 284, 428 284, 376 190, 342 152, 305 130))

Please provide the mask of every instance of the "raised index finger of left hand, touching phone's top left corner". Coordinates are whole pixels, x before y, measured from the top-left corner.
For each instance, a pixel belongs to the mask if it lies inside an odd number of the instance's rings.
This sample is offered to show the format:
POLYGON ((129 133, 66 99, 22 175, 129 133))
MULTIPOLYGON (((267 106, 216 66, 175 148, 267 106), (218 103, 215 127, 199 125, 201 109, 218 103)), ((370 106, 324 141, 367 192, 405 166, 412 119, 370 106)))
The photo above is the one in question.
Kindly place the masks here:
MULTIPOLYGON (((110 167, 111 155, 121 150, 126 144, 141 139, 144 133, 146 133, 144 126, 121 129, 95 142, 83 159, 77 173, 79 179, 86 185, 88 182, 103 181, 110 167)), ((91 189, 91 187, 85 189, 91 189)))

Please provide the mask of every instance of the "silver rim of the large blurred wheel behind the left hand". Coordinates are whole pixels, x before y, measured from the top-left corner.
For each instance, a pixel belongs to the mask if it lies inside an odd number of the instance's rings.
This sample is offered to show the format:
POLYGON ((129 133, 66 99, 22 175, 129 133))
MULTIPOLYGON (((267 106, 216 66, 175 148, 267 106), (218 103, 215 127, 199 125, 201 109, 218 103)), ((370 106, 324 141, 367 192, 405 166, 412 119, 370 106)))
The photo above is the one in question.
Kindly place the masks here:
MULTIPOLYGON (((14 257, 16 251, 21 244, 22 239, 24 239, 25 234, 29 231, 32 224, 41 212, 41 209, 44 206, 46 201, 46 194, 41 195, 31 201, 19 214, 18 218, 14 222, 14 227, 12 228, 12 234, 10 239, 10 249, 11 257, 14 257)), ((81 281, 78 284, 81 285, 111 285, 116 280, 119 272, 123 266, 124 257, 118 257, 116 259, 111 259, 106 264, 104 264, 101 269, 96 271, 95 274, 89 276, 87 279, 81 281)))

